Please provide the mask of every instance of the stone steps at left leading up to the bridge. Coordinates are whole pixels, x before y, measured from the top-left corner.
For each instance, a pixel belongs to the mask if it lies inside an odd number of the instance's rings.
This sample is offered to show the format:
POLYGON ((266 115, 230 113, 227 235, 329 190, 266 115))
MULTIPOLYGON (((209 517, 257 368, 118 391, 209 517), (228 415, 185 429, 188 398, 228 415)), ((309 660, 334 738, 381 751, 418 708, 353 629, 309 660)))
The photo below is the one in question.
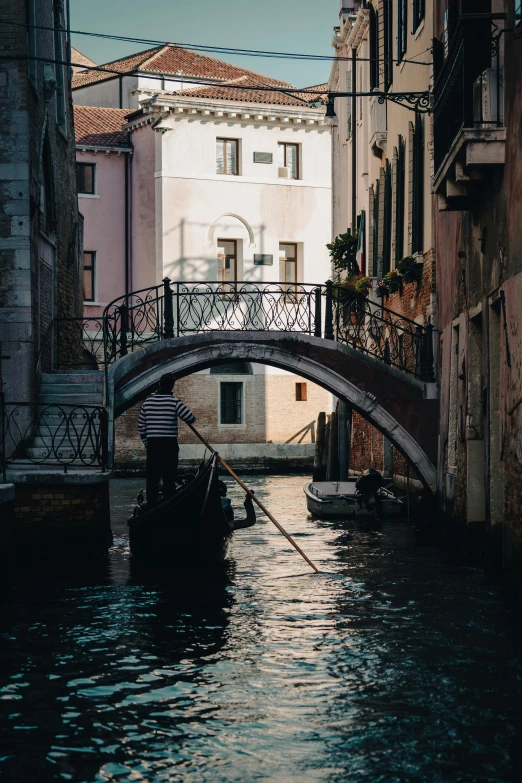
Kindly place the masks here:
POLYGON ((27 456, 39 461, 50 451, 59 450, 61 460, 72 460, 71 467, 84 465, 75 459, 75 453, 78 449, 93 451, 88 416, 92 406, 103 407, 103 390, 101 371, 43 373, 38 396, 39 425, 27 456))

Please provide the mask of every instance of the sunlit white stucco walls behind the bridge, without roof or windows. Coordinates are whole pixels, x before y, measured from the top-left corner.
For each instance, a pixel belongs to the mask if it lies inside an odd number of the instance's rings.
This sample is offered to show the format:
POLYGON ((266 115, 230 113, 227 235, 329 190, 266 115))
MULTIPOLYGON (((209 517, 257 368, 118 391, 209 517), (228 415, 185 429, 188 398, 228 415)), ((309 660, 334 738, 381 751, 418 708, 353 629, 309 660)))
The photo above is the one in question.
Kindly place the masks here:
MULTIPOLYGON (((86 123, 90 112, 94 122, 98 110, 85 108, 94 101, 112 112, 107 121, 121 111, 118 106, 139 106, 121 112, 127 115, 120 126, 127 141, 118 137, 120 148, 115 137, 102 139, 101 126, 97 140, 94 133, 77 135, 78 163, 94 164, 96 172, 96 192, 80 194, 85 250, 96 253, 96 294, 85 302, 85 315, 99 316, 126 291, 159 284, 164 277, 174 283, 221 281, 224 243, 235 248, 231 263, 237 282, 279 282, 285 274, 283 245, 296 258, 290 282, 324 283, 330 277, 326 244, 331 237, 331 129, 324 108, 287 96, 281 105, 277 99, 263 104, 262 93, 248 91, 238 100, 234 93, 216 98, 204 87, 191 91, 168 79, 160 95, 151 94, 157 85, 132 78, 122 78, 123 97, 117 102, 109 93, 119 90, 119 79, 74 90, 77 104, 85 104, 76 111, 86 123), (218 139, 235 145, 233 173, 218 173, 218 139), (290 173, 281 171, 285 144, 297 150, 298 170, 290 173)), ((203 371, 183 379, 179 393, 215 443, 250 443, 257 457, 296 436, 296 444, 301 435, 311 444, 312 422, 330 410, 330 394, 308 382, 306 400, 298 400, 296 384, 303 379, 273 367, 252 365, 251 371, 239 379, 203 371), (221 423, 223 383, 242 384, 240 424, 221 423)), ((122 460, 143 460, 135 415, 129 412, 116 427, 122 460)), ((190 441, 186 433, 181 439, 190 441)), ((310 446, 309 461, 312 452, 310 446)))

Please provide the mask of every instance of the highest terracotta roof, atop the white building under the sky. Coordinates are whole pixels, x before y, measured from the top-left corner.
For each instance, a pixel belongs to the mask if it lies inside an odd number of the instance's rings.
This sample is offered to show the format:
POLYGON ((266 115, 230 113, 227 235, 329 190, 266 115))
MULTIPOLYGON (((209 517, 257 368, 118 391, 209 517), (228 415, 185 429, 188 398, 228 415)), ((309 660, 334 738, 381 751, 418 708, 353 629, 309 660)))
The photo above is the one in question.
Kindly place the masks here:
MULTIPOLYGON (((287 82, 282 82, 269 76, 262 76, 246 68, 231 65, 222 60, 217 60, 215 57, 209 57, 206 54, 200 54, 190 49, 183 49, 183 47, 175 44, 147 49, 144 52, 138 52, 138 54, 133 54, 120 60, 104 63, 100 67, 117 73, 130 73, 139 69, 144 73, 165 73, 172 76, 181 75, 187 78, 222 81, 251 77, 267 86, 292 86, 287 82)), ((73 79, 73 89, 111 79, 112 74, 107 71, 91 70, 77 74, 73 79)))

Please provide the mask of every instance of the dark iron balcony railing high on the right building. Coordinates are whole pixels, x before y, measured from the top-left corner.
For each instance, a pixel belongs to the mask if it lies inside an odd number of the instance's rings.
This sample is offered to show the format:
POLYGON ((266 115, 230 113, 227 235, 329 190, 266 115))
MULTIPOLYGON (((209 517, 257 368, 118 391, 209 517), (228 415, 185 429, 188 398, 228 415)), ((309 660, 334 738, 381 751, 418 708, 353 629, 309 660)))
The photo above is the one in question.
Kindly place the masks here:
POLYGON ((463 129, 504 124, 503 30, 495 23, 503 16, 463 17, 448 51, 440 52, 444 62, 436 74, 433 108, 436 174, 463 129))

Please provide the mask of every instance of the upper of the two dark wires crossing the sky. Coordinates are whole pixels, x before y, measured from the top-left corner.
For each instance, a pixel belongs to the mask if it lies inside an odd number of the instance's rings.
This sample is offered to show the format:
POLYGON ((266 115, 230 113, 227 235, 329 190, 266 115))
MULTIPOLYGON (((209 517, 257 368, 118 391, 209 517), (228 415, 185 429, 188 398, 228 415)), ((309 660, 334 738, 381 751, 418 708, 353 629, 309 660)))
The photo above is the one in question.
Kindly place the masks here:
MULTIPOLYGON (((38 29, 38 30, 48 30, 51 32, 59 31, 59 32, 69 32, 70 35, 84 35, 89 36, 92 38, 102 38, 102 39, 108 39, 112 41, 123 41, 125 43, 136 43, 136 44, 143 44, 145 46, 179 46, 182 49, 187 49, 189 51, 201 51, 201 52, 215 52, 217 54, 232 54, 237 56, 246 56, 246 57, 265 57, 269 59, 283 59, 283 60, 309 60, 312 62, 352 62, 351 57, 336 57, 332 55, 322 55, 322 54, 299 54, 299 53, 292 53, 292 52, 270 52, 267 50, 259 50, 259 49, 239 49, 237 47, 227 47, 227 46, 210 46, 207 44, 193 44, 193 43, 180 43, 180 42, 172 42, 172 41, 158 41, 154 39, 149 38, 134 38, 130 36, 123 36, 123 35, 111 35, 109 33, 94 33, 94 32, 88 32, 85 30, 66 30, 63 27, 51 27, 51 26, 44 26, 44 25, 30 25, 26 22, 13 22, 8 19, 1 19, 1 22, 4 24, 10 24, 15 27, 26 27, 28 29, 38 29)), ((431 52, 431 49, 425 49, 424 52, 419 52, 419 54, 415 55, 416 57, 420 57, 421 54, 425 54, 426 52, 431 52)), ((122 58, 123 59, 123 58, 122 58)), ((379 58, 375 57, 358 57, 357 62, 380 62, 379 58)), ((431 62, 423 62, 415 59, 404 59, 402 62, 411 63, 412 65, 431 65, 431 62)))

